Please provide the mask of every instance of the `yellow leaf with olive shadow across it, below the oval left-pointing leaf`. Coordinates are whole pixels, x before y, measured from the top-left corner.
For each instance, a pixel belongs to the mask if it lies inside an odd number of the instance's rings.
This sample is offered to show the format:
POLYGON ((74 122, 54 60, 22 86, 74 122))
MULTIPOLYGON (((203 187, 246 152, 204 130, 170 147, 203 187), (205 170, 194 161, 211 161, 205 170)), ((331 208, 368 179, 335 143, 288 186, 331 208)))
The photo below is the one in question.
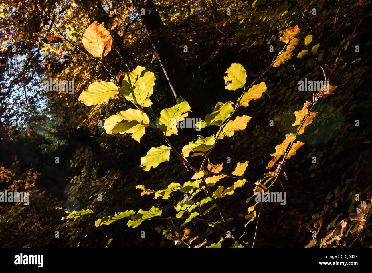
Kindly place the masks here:
POLYGON ((128 133, 132 134, 132 138, 140 142, 145 127, 150 124, 150 119, 138 109, 128 109, 121 111, 119 114, 109 116, 105 120, 103 128, 107 134, 128 133), (125 122, 126 121, 126 122, 125 122))

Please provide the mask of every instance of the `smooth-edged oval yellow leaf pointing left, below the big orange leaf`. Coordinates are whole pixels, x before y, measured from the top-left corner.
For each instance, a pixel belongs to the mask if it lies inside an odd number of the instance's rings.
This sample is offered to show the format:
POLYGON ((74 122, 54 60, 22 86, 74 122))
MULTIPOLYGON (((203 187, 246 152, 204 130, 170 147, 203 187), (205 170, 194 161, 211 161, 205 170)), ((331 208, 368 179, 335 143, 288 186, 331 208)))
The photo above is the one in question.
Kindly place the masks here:
POLYGON ((113 82, 93 82, 88 90, 81 92, 78 100, 87 106, 108 102, 119 93, 118 87, 113 82))

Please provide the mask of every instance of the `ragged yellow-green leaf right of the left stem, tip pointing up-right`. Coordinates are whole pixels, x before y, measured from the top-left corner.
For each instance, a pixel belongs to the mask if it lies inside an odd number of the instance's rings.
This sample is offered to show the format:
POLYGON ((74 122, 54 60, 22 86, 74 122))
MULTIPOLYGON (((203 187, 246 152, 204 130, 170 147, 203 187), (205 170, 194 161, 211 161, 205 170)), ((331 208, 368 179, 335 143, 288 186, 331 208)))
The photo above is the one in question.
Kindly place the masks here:
POLYGON ((157 128, 166 133, 166 136, 178 135, 177 122, 183 121, 190 112, 190 106, 182 97, 177 99, 177 104, 171 108, 161 110, 160 118, 157 119, 157 128))

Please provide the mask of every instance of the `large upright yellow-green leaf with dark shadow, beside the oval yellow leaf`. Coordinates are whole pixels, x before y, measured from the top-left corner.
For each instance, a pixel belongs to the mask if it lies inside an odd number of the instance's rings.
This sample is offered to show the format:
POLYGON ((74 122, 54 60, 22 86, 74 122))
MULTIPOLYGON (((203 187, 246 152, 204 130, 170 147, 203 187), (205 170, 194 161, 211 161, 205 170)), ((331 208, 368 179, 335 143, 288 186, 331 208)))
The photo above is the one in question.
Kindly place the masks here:
POLYGON ((154 92, 154 81, 154 73, 138 65, 132 72, 125 74, 122 80, 121 92, 128 101, 141 107, 148 107, 153 104, 150 101, 150 96, 154 92))

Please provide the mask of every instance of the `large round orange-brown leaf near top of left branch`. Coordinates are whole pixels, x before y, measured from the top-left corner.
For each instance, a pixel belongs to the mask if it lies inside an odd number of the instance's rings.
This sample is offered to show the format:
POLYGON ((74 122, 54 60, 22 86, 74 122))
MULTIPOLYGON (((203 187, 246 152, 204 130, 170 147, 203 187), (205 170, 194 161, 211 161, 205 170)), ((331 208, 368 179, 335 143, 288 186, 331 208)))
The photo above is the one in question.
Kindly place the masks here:
POLYGON ((83 34, 83 46, 93 57, 105 57, 111 51, 112 37, 108 30, 94 21, 83 34), (105 52, 105 55, 103 55, 105 52))

